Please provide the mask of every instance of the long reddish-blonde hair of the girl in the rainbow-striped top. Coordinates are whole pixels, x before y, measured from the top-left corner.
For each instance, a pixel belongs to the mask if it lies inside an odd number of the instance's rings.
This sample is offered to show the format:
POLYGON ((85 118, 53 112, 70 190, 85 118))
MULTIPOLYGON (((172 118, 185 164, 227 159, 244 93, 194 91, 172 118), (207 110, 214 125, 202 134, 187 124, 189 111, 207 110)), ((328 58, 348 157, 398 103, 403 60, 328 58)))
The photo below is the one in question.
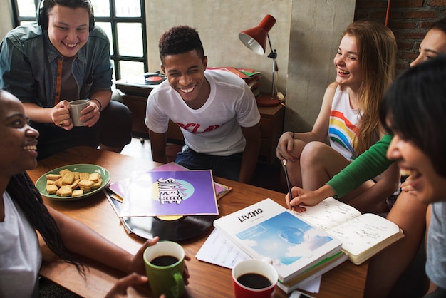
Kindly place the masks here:
POLYGON ((360 155, 379 139, 378 102, 395 78, 398 46, 393 32, 375 21, 354 21, 343 36, 356 38, 362 81, 358 94, 361 120, 356 134, 356 153, 360 155))

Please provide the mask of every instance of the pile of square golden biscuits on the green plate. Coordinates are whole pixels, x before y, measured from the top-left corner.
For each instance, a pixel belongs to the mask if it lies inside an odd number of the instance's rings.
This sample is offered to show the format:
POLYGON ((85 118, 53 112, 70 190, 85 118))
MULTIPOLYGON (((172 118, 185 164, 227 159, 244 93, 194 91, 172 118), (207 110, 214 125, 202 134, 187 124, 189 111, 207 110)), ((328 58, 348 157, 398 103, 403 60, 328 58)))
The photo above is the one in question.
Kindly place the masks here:
POLYGON ((58 174, 46 175, 46 192, 60 197, 77 197, 95 190, 102 185, 102 178, 97 172, 72 172, 61 170, 58 174))

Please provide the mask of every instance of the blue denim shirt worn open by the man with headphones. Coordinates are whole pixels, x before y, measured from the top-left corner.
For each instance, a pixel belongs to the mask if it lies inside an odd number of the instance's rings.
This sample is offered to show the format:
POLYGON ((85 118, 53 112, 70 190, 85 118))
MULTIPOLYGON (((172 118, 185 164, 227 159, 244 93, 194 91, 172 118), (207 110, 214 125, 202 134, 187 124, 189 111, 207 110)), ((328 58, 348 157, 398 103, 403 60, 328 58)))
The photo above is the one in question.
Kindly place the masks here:
MULTIPOLYGON (((58 59, 63 57, 41 26, 16 27, 0 43, 0 88, 24 103, 53 107, 58 59)), ((80 98, 89 98, 96 91, 111 91, 110 43, 102 29, 90 31, 87 43, 73 61, 72 72, 80 98)))

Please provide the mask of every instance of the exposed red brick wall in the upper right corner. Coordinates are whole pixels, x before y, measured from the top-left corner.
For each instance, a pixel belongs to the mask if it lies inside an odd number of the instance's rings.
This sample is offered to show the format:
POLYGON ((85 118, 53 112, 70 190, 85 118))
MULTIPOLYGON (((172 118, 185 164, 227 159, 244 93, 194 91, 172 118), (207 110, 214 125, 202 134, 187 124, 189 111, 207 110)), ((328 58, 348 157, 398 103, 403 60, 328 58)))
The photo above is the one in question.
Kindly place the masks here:
MULTIPOLYGON (((388 0, 356 0, 355 20, 385 24, 388 0)), ((433 22, 446 17, 446 0, 390 0, 388 27, 398 42, 397 70, 409 67, 433 22)))

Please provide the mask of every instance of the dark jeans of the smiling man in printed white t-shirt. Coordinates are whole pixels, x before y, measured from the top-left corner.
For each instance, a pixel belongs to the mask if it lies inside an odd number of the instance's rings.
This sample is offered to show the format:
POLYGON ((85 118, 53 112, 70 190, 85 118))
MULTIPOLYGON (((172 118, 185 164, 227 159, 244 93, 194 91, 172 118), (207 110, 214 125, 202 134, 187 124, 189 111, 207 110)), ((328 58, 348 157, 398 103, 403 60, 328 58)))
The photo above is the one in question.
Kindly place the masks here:
POLYGON ((212 175, 230 180, 239 180, 242 153, 229 156, 209 155, 197 153, 185 148, 177 154, 175 163, 190 170, 212 170, 212 175))

